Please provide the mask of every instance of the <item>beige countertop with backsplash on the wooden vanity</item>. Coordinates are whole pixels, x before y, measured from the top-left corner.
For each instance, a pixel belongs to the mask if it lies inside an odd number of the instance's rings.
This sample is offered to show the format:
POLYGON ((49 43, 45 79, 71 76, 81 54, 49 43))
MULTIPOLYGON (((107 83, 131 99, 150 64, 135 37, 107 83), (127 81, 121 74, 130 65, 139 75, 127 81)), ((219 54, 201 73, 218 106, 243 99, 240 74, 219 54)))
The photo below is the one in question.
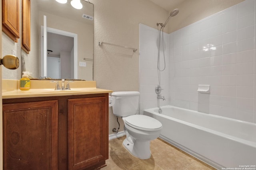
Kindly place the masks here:
MULTIPOLYGON (((61 81, 59 81, 59 84, 61 84, 61 81)), ((71 82, 71 90, 54 90, 55 85, 56 83, 52 83, 50 82, 50 80, 30 80, 30 90, 20 90, 19 80, 2 80, 2 98, 34 98, 47 96, 100 94, 112 92, 112 90, 96 88, 95 81, 71 82)))

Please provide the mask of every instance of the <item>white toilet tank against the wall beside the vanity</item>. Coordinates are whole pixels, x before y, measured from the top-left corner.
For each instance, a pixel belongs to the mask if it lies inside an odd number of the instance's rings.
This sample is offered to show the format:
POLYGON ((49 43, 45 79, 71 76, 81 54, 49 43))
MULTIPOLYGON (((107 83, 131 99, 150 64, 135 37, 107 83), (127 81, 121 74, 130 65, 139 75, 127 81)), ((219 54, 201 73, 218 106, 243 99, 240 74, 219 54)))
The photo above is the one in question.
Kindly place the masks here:
POLYGON ((124 117, 135 115, 139 105, 140 92, 113 92, 112 97, 115 100, 113 107, 114 115, 124 117))

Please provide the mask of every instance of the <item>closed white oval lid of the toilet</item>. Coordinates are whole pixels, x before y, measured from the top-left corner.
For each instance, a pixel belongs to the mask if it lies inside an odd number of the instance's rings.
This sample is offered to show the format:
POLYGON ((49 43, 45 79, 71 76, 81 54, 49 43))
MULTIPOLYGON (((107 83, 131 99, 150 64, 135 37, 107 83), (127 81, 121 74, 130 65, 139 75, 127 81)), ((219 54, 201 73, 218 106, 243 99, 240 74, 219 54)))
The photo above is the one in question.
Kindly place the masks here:
POLYGON ((144 131, 158 131, 162 129, 160 121, 146 115, 130 115, 125 118, 125 123, 144 131))

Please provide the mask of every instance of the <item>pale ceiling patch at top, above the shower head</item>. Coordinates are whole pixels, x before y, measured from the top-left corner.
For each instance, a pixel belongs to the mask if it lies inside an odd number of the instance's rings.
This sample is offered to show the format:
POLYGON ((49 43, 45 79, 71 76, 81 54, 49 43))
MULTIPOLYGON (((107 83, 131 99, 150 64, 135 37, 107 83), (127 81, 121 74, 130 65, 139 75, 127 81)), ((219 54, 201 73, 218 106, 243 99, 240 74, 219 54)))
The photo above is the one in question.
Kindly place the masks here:
POLYGON ((171 12, 176 9, 178 4, 181 4, 185 0, 150 0, 154 4, 164 8, 166 11, 171 12))

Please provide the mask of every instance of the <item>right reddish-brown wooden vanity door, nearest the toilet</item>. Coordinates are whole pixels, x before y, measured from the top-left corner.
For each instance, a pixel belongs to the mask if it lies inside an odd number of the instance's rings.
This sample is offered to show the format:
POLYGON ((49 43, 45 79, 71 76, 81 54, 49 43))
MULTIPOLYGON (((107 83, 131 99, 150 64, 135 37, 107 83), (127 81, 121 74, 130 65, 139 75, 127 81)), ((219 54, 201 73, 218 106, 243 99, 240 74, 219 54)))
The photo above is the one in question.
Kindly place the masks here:
POLYGON ((106 97, 68 100, 68 170, 86 169, 108 158, 106 97))

